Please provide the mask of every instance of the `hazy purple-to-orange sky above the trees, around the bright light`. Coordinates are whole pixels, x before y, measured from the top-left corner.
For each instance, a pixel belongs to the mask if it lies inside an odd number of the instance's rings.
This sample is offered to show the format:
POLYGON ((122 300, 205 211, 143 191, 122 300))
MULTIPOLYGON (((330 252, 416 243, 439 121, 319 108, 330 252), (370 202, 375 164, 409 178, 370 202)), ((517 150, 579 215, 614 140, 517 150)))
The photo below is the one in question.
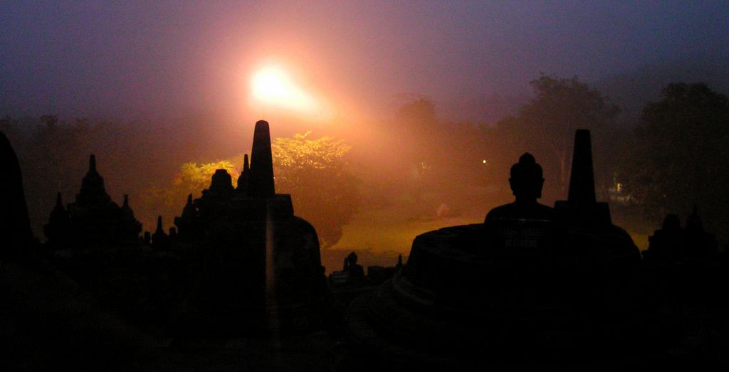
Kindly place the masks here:
POLYGON ((525 94, 540 72, 729 55, 729 1, 289 3, 1 1, 0 110, 246 117, 250 76, 278 63, 340 114, 375 116, 413 95, 525 94))

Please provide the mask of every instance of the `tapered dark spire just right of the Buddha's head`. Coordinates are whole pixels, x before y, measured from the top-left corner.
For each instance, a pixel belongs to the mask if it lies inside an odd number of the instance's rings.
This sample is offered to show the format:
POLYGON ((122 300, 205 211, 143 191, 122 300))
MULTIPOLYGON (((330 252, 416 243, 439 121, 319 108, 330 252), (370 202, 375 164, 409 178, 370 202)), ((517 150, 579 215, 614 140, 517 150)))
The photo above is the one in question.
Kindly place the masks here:
POLYGON ((596 202, 595 176, 593 174, 592 143, 590 131, 577 130, 574 134, 574 153, 572 154, 572 174, 569 178, 567 201, 578 205, 596 202))

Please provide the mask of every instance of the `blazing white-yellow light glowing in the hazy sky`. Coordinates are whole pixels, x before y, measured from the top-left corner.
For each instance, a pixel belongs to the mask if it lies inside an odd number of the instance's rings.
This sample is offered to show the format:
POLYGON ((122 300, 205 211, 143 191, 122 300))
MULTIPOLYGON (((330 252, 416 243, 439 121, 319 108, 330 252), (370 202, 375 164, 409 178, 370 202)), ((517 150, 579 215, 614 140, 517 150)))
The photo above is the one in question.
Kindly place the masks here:
POLYGON ((320 103, 294 82, 283 68, 268 66, 252 79, 255 104, 286 108, 300 114, 319 114, 320 103))

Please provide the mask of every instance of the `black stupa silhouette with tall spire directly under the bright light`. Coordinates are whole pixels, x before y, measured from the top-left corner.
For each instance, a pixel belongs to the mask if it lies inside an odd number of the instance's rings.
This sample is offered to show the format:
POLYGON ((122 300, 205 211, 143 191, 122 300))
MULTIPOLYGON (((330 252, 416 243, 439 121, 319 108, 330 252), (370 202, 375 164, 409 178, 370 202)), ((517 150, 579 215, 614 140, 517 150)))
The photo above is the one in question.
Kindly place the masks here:
POLYGON ((268 122, 256 123, 238 188, 217 170, 192 205, 176 221, 181 235, 198 231, 193 244, 206 253, 206 270, 177 332, 230 336, 320 325, 326 281, 319 240, 294 215, 291 196, 276 194, 268 122))

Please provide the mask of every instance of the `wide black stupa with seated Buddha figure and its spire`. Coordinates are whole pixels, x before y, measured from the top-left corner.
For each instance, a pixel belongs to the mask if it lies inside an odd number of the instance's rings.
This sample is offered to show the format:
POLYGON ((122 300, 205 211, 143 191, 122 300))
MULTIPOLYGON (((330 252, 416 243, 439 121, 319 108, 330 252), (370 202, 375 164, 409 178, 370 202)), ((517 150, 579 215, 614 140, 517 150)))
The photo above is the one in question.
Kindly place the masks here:
POLYGON ((642 351, 644 333, 625 326, 635 314, 622 312, 640 256, 596 202, 589 136, 577 132, 566 202, 537 202, 542 168, 523 154, 511 170, 515 202, 484 223, 416 237, 403 269, 348 309, 343 365, 569 370, 642 351))

